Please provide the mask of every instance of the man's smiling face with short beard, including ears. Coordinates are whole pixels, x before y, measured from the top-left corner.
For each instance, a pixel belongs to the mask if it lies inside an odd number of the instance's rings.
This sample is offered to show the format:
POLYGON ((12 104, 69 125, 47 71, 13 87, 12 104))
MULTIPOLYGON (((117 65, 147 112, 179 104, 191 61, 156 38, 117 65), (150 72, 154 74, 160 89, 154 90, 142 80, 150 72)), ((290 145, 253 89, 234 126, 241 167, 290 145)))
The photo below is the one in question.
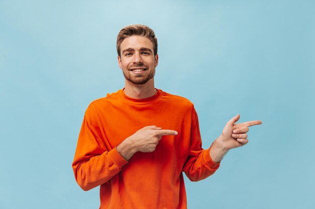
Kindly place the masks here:
POLYGON ((153 43, 141 36, 131 36, 121 43, 118 65, 125 79, 141 85, 153 79, 159 57, 153 54, 153 43))

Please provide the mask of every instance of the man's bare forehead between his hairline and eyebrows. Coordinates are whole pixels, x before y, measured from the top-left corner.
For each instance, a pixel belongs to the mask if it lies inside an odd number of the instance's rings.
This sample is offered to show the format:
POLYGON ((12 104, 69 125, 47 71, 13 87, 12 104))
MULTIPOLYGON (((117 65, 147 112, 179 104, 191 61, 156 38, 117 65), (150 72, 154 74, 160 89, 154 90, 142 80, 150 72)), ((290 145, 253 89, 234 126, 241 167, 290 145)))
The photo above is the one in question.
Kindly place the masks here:
POLYGON ((130 36, 121 42, 120 50, 123 51, 128 48, 140 49, 143 47, 153 51, 153 43, 148 38, 142 36, 130 36))

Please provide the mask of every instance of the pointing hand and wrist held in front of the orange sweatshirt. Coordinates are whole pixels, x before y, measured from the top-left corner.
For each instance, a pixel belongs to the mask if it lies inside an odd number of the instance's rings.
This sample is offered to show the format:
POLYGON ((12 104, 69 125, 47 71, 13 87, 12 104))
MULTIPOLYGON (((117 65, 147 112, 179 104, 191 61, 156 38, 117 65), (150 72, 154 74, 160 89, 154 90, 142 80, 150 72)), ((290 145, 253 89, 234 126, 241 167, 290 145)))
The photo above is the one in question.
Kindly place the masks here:
POLYGON ((118 153, 129 160, 136 152, 153 152, 164 135, 177 135, 174 130, 162 129, 156 126, 145 126, 126 138, 116 147, 118 153))

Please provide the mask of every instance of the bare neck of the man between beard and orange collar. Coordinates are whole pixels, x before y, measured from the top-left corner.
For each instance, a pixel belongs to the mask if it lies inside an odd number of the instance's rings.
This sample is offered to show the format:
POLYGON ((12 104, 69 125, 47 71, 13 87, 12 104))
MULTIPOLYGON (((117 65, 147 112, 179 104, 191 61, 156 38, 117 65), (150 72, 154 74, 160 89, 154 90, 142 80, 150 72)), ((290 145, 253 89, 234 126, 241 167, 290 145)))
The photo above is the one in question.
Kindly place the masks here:
POLYGON ((133 99, 145 99, 154 96, 156 90, 154 88, 154 80, 150 79, 145 84, 137 85, 125 80, 124 93, 133 99))

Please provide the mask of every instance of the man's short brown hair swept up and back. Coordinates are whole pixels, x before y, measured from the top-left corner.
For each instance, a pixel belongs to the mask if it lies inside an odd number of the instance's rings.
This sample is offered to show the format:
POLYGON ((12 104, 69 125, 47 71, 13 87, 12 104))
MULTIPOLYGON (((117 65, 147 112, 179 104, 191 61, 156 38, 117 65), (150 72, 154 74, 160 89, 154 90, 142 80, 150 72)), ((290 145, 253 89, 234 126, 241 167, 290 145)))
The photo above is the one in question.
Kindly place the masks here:
POLYGON ((153 44, 154 56, 157 54, 157 39, 152 29, 144 25, 129 25, 121 29, 117 36, 117 54, 120 57, 120 45, 124 39, 130 36, 142 36, 148 38, 153 44))

